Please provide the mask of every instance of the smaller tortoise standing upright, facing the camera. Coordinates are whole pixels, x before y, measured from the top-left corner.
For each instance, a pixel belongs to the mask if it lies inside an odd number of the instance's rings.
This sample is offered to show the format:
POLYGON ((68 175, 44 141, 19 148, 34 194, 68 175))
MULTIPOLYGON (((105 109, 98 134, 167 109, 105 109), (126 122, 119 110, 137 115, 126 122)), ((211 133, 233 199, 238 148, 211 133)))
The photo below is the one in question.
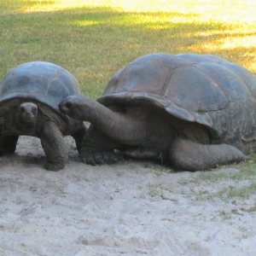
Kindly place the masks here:
POLYGON ((46 155, 45 169, 58 171, 67 161, 63 136, 71 135, 78 150, 84 123, 65 115, 58 104, 79 96, 79 84, 62 67, 32 61, 11 69, 0 84, 0 154, 15 153, 20 135, 39 137, 46 155))

